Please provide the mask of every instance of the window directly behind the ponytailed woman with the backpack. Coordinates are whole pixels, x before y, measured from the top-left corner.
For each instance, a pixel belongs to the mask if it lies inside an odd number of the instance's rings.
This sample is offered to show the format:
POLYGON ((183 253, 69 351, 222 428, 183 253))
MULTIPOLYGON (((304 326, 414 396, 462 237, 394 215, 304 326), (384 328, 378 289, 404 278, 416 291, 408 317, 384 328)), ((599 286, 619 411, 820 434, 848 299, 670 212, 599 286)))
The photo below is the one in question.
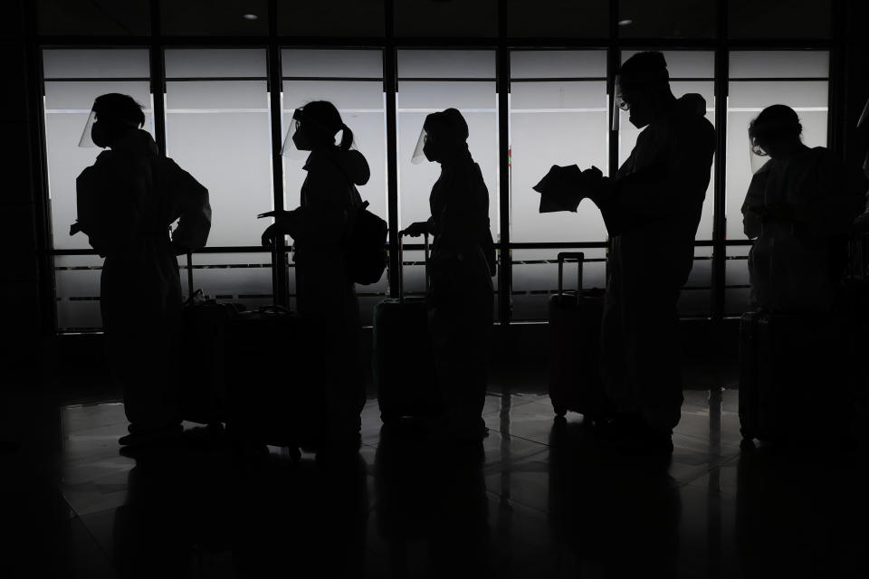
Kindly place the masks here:
MULTIPOLYGON (((283 128, 292 111, 312 100, 329 100, 353 131, 354 147, 368 159, 371 177, 359 194, 369 210, 387 219, 386 100, 383 92, 381 50, 282 51, 283 128)), ((287 208, 298 207, 306 172, 304 158, 283 157, 284 195, 287 208)), ((294 288, 291 285, 291 291, 294 288)), ((358 286, 363 321, 371 323, 371 311, 387 293, 387 276, 377 284, 358 286)))

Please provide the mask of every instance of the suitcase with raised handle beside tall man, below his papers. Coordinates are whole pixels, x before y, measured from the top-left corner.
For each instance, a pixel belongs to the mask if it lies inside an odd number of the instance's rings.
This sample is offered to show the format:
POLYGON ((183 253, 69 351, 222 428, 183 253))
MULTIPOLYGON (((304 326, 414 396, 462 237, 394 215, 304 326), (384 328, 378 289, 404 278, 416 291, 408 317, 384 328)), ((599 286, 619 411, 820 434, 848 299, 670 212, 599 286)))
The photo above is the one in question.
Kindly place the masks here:
POLYGON ((559 253, 559 292, 549 298, 549 399, 559 417, 570 410, 596 420, 609 405, 600 376, 604 291, 582 289, 584 261, 581 252, 559 253), (578 261, 577 291, 564 291, 565 260, 578 261))

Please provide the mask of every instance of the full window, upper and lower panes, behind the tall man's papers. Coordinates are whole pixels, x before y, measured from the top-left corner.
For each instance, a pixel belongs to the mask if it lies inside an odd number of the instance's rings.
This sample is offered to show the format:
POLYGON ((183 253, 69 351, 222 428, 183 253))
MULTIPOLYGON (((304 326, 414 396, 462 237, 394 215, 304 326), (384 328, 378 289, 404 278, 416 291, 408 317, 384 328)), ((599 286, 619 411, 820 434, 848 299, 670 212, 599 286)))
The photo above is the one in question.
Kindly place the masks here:
MULTIPOLYGON (((511 242, 606 243, 606 227, 588 200, 577 214, 540 214, 531 189, 553 165, 608 169, 606 51, 513 51, 510 86, 511 242)), ((511 252, 512 316, 545 319, 557 286, 558 248, 511 252)), ((587 249, 587 287, 605 284, 604 250, 587 249)), ((576 286, 566 278, 568 289, 576 286)))

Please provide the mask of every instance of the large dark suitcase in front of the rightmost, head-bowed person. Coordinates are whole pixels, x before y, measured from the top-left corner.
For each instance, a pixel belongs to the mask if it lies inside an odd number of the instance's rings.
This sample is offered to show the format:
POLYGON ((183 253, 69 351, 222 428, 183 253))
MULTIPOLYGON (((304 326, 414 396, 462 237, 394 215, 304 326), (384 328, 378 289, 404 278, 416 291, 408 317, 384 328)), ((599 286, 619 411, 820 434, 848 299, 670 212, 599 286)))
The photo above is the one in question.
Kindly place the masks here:
POLYGON ((851 331, 836 312, 749 313, 740 321, 744 439, 809 441, 850 428, 851 331))

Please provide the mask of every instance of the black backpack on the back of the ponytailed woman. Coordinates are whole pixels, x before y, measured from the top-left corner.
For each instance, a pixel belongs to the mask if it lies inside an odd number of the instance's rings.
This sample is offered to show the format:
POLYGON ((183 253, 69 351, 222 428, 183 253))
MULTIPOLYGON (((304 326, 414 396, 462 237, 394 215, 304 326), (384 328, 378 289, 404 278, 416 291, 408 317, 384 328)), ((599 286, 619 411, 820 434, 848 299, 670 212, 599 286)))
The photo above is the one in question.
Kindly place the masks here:
POLYGON ((368 201, 351 215, 344 239, 350 279, 362 285, 377 283, 387 269, 387 222, 368 211, 368 201))

